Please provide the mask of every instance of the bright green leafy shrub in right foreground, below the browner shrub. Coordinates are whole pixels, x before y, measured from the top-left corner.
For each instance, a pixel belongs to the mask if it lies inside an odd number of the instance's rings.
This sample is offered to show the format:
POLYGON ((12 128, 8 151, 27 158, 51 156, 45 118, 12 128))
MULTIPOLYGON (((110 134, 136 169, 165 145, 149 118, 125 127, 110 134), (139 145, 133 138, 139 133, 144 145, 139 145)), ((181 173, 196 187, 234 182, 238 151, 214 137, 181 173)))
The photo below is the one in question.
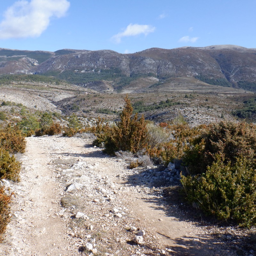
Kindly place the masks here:
POLYGON ((202 175, 182 176, 187 199, 219 220, 250 228, 256 224, 256 173, 246 157, 234 164, 220 156, 202 175))

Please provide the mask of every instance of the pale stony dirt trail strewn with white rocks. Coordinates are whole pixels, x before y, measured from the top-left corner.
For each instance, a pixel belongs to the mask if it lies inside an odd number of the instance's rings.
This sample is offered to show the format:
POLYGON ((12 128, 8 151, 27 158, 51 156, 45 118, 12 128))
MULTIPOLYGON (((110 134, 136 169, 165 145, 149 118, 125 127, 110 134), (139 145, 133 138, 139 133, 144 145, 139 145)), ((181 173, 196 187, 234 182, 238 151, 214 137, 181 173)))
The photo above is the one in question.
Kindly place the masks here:
POLYGON ((1 256, 81 255, 78 248, 86 243, 92 243, 98 255, 218 255, 199 242, 203 231, 178 218, 160 190, 139 186, 127 163, 103 155, 90 142, 27 138, 21 182, 11 186, 16 198, 1 256), (74 182, 84 187, 65 192, 74 182), (64 209, 60 200, 70 195, 82 203, 64 209), (114 208, 123 216, 117 219, 114 208), (72 217, 79 209, 90 218, 72 217), (135 235, 127 230, 134 225, 146 232, 144 247, 129 242, 135 235))

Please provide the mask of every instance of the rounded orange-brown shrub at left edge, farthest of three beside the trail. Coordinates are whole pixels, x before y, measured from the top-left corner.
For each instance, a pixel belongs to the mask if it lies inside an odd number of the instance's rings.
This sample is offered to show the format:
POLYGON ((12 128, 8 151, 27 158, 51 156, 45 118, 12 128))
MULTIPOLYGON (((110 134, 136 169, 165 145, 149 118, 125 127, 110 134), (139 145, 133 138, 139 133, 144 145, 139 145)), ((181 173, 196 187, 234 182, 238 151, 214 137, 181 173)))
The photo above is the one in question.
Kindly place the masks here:
POLYGON ((0 147, 10 153, 24 153, 26 141, 18 126, 8 124, 0 130, 0 147))

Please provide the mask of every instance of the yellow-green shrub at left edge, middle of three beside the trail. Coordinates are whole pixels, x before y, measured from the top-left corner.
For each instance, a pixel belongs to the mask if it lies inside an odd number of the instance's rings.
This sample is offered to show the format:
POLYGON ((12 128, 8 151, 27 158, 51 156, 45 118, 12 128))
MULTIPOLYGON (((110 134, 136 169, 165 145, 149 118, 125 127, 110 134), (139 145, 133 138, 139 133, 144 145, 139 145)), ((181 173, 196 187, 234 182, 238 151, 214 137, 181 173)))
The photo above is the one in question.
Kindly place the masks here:
POLYGON ((14 156, 10 156, 9 152, 0 149, 0 179, 20 181, 21 164, 16 161, 14 156))

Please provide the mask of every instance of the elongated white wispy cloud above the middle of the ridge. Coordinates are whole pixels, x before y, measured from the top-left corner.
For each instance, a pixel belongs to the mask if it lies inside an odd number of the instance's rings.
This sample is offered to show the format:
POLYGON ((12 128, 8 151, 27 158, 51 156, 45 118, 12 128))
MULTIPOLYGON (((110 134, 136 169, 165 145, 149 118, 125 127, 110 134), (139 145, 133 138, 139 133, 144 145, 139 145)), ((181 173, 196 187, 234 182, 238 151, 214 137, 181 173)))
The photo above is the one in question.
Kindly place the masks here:
POLYGON ((121 42, 121 38, 124 36, 137 36, 140 34, 147 36, 149 33, 154 32, 155 29, 155 27, 150 25, 129 24, 123 32, 112 36, 111 39, 119 44, 121 42))

